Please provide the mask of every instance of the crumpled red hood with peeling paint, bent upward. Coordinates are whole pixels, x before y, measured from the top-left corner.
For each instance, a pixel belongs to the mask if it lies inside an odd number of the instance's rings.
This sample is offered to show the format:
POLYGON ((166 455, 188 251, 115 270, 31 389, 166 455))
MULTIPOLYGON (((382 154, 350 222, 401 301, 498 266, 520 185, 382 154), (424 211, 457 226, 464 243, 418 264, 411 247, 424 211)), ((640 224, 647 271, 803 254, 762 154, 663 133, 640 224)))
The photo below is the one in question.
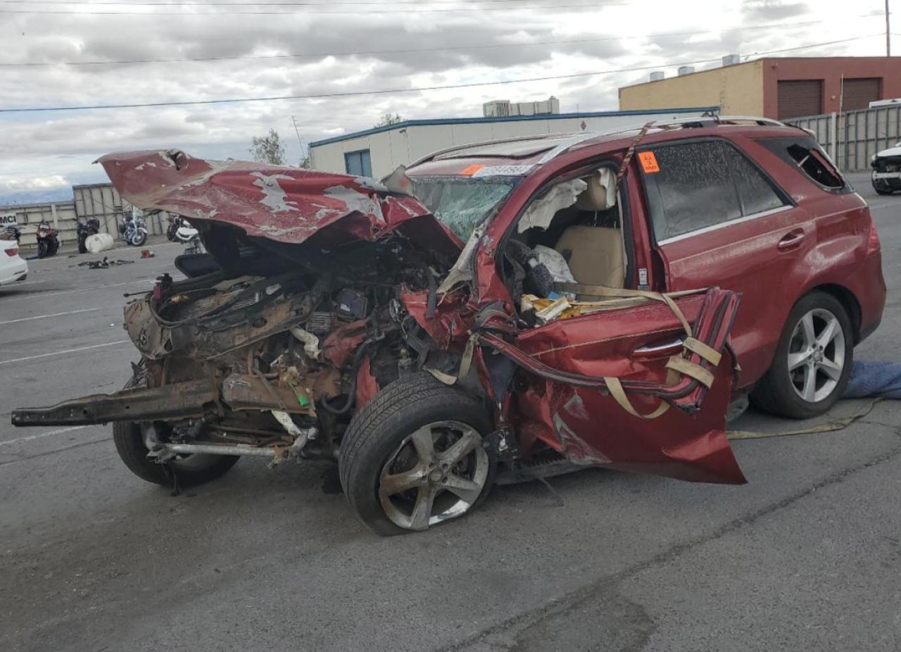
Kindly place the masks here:
POLYGON ((417 199, 393 195, 375 179, 204 161, 179 150, 113 153, 98 162, 119 194, 142 210, 233 225, 280 243, 303 243, 336 223, 345 234, 371 241, 422 217, 415 228, 405 229, 408 237, 445 252, 459 252, 461 246, 417 199))

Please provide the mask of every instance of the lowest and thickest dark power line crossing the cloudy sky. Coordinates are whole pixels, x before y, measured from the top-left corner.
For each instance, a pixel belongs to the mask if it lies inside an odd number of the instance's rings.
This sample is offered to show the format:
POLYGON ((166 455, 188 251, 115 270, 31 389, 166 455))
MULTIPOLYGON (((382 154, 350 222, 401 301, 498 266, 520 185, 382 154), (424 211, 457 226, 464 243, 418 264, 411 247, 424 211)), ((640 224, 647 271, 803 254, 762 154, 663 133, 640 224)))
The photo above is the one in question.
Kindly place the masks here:
MULTIPOLYGON (((850 41, 860 41, 861 39, 873 38, 873 36, 882 36, 883 32, 877 34, 865 34, 854 36, 849 39, 841 39, 839 41, 824 41, 822 43, 811 43, 809 45, 800 45, 794 48, 783 48, 781 50, 770 50, 765 52, 755 52, 749 56, 760 56, 764 54, 778 54, 779 52, 809 50, 811 48, 820 48, 826 45, 836 45, 838 43, 847 43, 850 41)), ((691 66, 700 63, 711 63, 718 61, 719 58, 705 59, 697 61, 685 61, 682 63, 671 63, 672 66, 691 66)), ((91 105, 91 106, 35 106, 32 108, 0 108, 0 114, 26 113, 26 112, 46 112, 46 111, 89 111, 96 109, 115 109, 115 108, 147 108, 151 106, 200 106, 200 105, 218 105, 218 104, 236 104, 240 102, 272 102, 276 100, 287 99, 326 99, 332 97, 352 97, 352 96, 371 96, 371 95, 390 95, 396 93, 411 93, 427 90, 449 90, 453 88, 474 88, 485 86, 502 86, 506 84, 519 84, 523 82, 534 81, 551 81, 554 79, 574 79, 584 77, 595 77, 597 75, 612 75, 620 72, 637 72, 641 70, 659 69, 656 66, 639 66, 637 68, 623 68, 614 70, 595 70, 592 72, 577 72, 569 75, 549 75, 547 77, 533 77, 523 79, 504 79, 501 81, 481 81, 469 84, 449 84, 446 86, 424 86, 414 88, 382 88, 379 90, 361 90, 361 91, 345 91, 339 93, 313 93, 308 95, 285 95, 285 96, 267 96, 267 97, 236 97, 231 99, 206 99, 206 100, 189 100, 189 101, 171 101, 171 102, 141 102, 132 104, 107 104, 107 105, 91 105)))

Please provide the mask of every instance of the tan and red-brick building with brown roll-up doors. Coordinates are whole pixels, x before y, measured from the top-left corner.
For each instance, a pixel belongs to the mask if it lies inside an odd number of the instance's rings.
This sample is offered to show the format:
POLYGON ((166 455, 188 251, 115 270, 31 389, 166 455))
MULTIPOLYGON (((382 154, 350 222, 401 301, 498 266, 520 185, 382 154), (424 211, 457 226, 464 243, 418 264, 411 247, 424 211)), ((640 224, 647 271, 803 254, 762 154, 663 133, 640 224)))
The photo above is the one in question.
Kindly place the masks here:
POLYGON ((619 89, 622 111, 677 106, 717 106, 723 115, 762 115, 783 120, 867 108, 901 97, 901 57, 764 58, 719 68, 683 66, 677 77, 619 89))

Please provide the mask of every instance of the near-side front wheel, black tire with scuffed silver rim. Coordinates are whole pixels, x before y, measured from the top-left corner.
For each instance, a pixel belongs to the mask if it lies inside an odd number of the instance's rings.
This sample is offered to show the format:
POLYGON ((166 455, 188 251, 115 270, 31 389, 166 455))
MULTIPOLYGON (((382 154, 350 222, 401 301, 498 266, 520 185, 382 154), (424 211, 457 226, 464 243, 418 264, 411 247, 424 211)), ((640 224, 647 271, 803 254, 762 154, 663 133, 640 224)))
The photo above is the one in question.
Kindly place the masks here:
POLYGON ((493 430, 482 401, 430 373, 413 374, 378 392, 351 419, 338 460, 341 487, 359 518, 383 536, 458 518, 478 507, 494 482, 496 458, 482 445, 493 430), (432 457, 423 458, 414 445, 423 433, 429 435, 432 457), (469 452, 457 458, 454 444, 469 452), (424 459, 433 462, 427 465, 424 459), (388 496, 383 480, 395 473, 419 479, 388 496), (428 507, 417 512, 421 499, 428 507), (417 519, 417 513, 426 516, 417 519))

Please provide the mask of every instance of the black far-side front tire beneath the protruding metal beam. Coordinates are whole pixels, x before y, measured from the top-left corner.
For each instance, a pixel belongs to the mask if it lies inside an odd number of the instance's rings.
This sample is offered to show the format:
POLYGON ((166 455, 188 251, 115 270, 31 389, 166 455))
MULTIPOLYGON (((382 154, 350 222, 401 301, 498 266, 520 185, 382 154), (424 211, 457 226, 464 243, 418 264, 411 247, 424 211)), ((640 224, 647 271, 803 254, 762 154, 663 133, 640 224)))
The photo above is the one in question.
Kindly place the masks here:
MULTIPOLYGON (((132 376, 124 389, 144 387, 145 384, 142 376, 132 376)), ((127 421, 113 424, 113 441, 116 452, 129 471, 141 480, 163 486, 172 485, 169 470, 175 472, 179 485, 190 487, 222 477, 241 459, 240 455, 187 455, 184 459, 173 460, 171 464, 158 464, 147 457, 141 428, 127 421)))

